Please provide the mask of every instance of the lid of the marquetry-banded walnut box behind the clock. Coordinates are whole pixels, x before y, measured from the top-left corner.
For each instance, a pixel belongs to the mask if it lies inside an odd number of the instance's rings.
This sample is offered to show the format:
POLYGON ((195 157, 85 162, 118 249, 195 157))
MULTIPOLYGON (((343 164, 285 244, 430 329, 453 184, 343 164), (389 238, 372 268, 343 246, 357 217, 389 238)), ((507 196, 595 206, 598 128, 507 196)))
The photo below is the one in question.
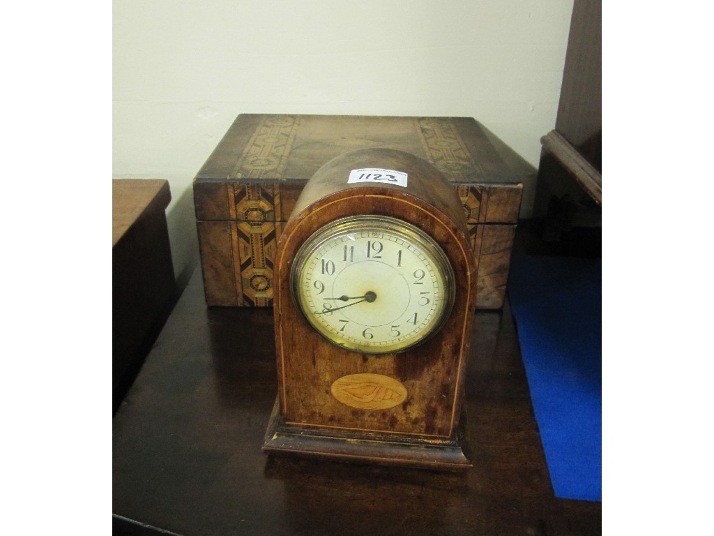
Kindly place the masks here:
MULTIPOLYGON (((517 189, 503 193, 508 197, 504 203, 508 214, 499 215, 499 222, 516 222, 521 183, 535 172, 470 117, 241 114, 193 181, 196 217, 199 221, 236 219, 226 204, 229 185, 278 187, 288 207, 323 164, 369 147, 423 158, 455 187, 517 189)), ((284 221, 287 212, 283 207, 271 219, 284 221)))

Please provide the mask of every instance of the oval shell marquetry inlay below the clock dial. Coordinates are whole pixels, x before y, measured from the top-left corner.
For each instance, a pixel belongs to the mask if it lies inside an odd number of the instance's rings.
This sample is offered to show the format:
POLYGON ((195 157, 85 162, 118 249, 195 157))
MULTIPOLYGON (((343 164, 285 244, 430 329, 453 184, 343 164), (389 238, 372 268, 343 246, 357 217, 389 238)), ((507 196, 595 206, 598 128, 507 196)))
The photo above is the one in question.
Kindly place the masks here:
POLYGON ((406 399, 406 387, 382 374, 349 374, 330 387, 332 396, 343 404, 360 410, 386 410, 406 399))

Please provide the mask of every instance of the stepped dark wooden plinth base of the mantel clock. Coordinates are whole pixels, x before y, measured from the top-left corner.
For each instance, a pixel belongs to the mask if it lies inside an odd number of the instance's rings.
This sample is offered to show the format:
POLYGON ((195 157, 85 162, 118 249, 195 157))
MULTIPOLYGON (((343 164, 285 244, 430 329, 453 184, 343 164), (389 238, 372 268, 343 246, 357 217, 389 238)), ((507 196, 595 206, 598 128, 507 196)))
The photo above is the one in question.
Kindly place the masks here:
MULTIPOLYGON (((463 422, 463 421, 462 421, 463 422)), ((345 462, 461 471, 473 467, 458 437, 431 440, 286 425, 276 400, 263 452, 345 462)))

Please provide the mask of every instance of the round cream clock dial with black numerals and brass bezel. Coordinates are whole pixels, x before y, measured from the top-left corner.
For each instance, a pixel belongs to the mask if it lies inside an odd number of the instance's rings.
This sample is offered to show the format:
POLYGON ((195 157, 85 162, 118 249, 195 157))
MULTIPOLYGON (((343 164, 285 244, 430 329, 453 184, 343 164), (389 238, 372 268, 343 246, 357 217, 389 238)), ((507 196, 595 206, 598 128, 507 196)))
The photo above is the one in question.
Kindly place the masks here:
POLYGON ((334 344, 366 354, 423 342, 453 304, 453 270, 441 247, 396 218, 355 216, 313 234, 293 263, 293 294, 334 344))

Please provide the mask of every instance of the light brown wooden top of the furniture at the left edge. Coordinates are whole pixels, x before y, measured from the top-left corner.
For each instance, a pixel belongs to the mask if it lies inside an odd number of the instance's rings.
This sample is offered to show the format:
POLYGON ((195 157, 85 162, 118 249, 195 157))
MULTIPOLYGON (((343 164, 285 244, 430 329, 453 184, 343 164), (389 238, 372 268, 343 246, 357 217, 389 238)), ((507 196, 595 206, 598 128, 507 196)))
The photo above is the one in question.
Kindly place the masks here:
POLYGON ((111 181, 112 242, 124 236, 141 214, 156 205, 166 209, 171 201, 169 181, 164 179, 114 179, 111 181))

